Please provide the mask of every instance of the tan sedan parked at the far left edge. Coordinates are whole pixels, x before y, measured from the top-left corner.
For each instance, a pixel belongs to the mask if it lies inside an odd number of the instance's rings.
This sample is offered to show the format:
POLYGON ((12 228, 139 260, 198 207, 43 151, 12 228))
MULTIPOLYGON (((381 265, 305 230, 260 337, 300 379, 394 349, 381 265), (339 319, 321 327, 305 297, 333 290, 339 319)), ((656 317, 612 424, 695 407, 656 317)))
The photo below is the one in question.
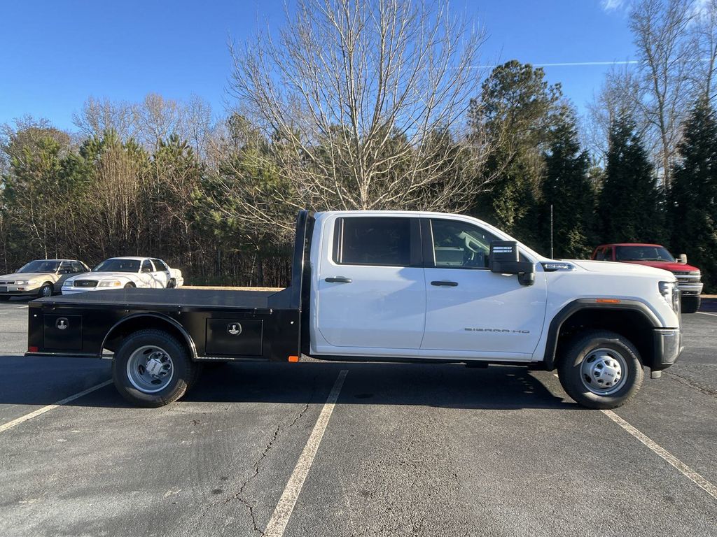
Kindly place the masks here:
POLYGON ((11 296, 52 296, 65 280, 90 271, 77 259, 35 259, 13 274, 0 276, 0 300, 11 296))

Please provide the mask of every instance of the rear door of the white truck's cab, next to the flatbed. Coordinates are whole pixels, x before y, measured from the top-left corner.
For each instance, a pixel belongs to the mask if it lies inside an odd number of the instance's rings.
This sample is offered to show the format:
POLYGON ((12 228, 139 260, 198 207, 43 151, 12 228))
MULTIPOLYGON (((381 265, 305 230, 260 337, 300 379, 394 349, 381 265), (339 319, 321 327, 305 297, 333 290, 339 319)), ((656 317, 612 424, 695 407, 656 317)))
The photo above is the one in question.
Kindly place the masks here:
POLYGON ((419 349, 426 311, 419 218, 336 217, 323 230, 314 282, 317 352, 419 349))

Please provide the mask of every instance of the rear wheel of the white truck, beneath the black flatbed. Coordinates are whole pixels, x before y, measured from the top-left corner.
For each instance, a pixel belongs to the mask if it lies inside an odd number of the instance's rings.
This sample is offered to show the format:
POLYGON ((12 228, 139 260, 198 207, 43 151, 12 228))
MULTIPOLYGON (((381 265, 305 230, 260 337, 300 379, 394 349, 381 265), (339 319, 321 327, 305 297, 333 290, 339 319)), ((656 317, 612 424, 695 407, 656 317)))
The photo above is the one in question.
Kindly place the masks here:
POLYGON ((139 407, 162 407, 178 400, 198 374, 186 348, 161 330, 130 334, 112 361, 115 387, 125 400, 139 407))

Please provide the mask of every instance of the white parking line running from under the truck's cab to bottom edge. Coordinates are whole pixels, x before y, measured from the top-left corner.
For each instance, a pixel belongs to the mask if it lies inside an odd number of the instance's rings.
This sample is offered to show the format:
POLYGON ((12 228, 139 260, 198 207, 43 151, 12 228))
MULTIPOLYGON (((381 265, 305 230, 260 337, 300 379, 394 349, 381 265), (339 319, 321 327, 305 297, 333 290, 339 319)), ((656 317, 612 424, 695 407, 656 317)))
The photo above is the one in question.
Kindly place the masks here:
POLYGON ((336 382, 333 383, 331 393, 323 405, 318 420, 316 420, 316 425, 314 425, 313 431, 311 431, 311 435, 306 441, 298 463, 296 463, 294 471, 288 483, 286 483, 284 492, 281 498, 279 498, 279 503, 277 503, 274 513, 272 513, 269 523, 267 524, 267 528, 264 531, 265 537, 282 537, 284 535, 286 525, 289 522, 289 518, 291 518, 291 513, 294 511, 296 500, 301 493, 306 476, 309 473, 311 464, 318 451, 318 445, 321 443, 323 433, 326 431, 328 420, 331 418, 331 412, 333 412, 333 407, 336 405, 336 400, 338 400, 338 394, 341 392, 343 379, 346 379, 346 374, 348 374, 348 369, 342 369, 336 378, 336 382))

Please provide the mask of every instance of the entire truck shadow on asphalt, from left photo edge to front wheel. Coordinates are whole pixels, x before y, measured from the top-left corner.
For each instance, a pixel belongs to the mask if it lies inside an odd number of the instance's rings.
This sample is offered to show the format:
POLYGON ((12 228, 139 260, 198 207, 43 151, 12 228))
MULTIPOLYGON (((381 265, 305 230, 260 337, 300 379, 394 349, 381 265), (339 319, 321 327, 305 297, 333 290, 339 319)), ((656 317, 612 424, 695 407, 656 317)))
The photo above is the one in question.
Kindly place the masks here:
MULTIPOLYGON (((0 379, 0 405, 52 405, 110 377, 110 362, 105 360, 5 356, 0 357, 0 365, 4 367, 0 379)), ((348 374, 338 398, 340 405, 417 405, 486 410, 581 408, 566 396, 563 399, 557 379, 550 373, 530 372, 525 367, 478 369, 460 364, 316 360, 299 364, 205 364, 199 381, 182 401, 189 404, 323 404, 343 369, 348 374), (554 395, 543 381, 549 382, 559 395, 554 395)), ((65 405, 130 407, 112 384, 65 405)))

